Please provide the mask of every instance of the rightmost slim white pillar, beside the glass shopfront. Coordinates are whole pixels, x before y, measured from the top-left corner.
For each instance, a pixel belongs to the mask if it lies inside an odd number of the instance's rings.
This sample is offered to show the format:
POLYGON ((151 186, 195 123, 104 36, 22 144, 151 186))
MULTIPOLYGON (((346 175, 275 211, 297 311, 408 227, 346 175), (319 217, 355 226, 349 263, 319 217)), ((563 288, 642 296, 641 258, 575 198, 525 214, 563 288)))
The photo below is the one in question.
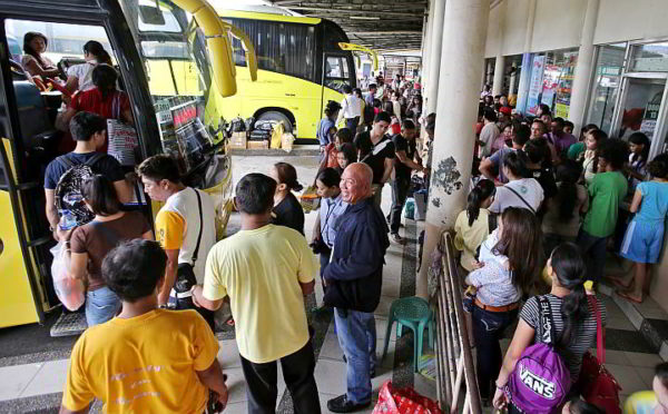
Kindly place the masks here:
POLYGON ((574 131, 580 130, 587 110, 587 92, 589 91, 589 82, 595 65, 593 31, 596 30, 599 2, 600 0, 589 0, 584 13, 584 26, 580 38, 580 49, 578 50, 578 62, 573 73, 570 109, 568 111, 568 119, 576 125, 574 131))

